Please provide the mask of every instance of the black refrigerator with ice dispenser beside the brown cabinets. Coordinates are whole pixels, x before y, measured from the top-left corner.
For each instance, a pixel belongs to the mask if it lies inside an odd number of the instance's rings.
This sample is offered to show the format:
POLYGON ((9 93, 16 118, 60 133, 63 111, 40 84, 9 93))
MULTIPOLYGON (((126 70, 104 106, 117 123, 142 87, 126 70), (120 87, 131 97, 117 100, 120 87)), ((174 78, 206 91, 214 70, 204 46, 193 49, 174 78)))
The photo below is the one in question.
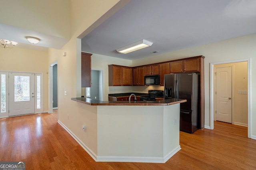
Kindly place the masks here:
POLYGON ((180 104, 180 131, 194 133, 199 129, 199 92, 199 75, 196 73, 164 75, 164 99, 187 100, 180 104))

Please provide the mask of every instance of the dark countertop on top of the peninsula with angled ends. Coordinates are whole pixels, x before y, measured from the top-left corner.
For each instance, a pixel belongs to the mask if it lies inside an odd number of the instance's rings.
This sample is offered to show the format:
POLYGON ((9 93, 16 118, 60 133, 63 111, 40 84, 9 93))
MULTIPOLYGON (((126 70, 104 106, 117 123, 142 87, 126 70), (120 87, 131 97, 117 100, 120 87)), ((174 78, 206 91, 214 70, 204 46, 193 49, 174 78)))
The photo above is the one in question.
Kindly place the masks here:
POLYGON ((91 106, 169 106, 178 103, 184 103, 185 99, 167 99, 160 101, 100 101, 89 98, 71 98, 76 102, 88 104, 91 106))

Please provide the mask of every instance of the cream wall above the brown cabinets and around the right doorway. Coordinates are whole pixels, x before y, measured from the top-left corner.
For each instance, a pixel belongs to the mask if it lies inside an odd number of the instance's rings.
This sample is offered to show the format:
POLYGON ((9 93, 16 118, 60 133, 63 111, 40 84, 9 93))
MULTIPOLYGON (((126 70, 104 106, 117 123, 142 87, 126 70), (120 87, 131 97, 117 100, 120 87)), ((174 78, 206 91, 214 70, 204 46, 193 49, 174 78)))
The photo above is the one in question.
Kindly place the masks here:
MULTIPOLYGON (((210 127, 210 63, 221 61, 233 61, 238 59, 252 59, 251 60, 251 87, 256 86, 256 34, 238 37, 192 47, 179 51, 173 51, 162 55, 148 57, 147 60, 138 59, 132 61, 133 66, 157 63, 161 61, 169 61, 172 59, 181 59, 186 57, 193 57, 198 55, 205 56, 204 59, 204 79, 205 79, 205 125, 210 127)), ((256 122, 256 90, 251 89, 251 121, 256 122)), ((256 124, 252 124, 252 135, 256 139, 256 124)))

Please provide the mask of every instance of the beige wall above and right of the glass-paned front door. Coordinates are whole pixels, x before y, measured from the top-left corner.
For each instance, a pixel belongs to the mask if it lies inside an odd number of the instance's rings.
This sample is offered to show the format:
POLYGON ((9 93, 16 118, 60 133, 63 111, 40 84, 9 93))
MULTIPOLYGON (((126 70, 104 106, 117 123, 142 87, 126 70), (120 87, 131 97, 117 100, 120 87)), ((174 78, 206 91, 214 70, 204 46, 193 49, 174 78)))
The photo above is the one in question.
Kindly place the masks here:
POLYGON ((0 49, 0 70, 44 75, 44 111, 48 111, 48 53, 14 47, 0 49))

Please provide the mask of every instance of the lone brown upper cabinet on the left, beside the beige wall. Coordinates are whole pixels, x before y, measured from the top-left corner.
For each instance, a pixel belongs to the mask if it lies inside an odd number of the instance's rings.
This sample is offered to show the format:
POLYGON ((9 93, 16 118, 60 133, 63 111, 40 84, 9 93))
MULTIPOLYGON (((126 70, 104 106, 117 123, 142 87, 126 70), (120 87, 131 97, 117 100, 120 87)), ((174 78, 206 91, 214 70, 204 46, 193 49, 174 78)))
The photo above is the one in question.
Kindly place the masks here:
POLYGON ((81 53, 81 85, 82 87, 91 87, 92 69, 91 56, 89 53, 81 53))

